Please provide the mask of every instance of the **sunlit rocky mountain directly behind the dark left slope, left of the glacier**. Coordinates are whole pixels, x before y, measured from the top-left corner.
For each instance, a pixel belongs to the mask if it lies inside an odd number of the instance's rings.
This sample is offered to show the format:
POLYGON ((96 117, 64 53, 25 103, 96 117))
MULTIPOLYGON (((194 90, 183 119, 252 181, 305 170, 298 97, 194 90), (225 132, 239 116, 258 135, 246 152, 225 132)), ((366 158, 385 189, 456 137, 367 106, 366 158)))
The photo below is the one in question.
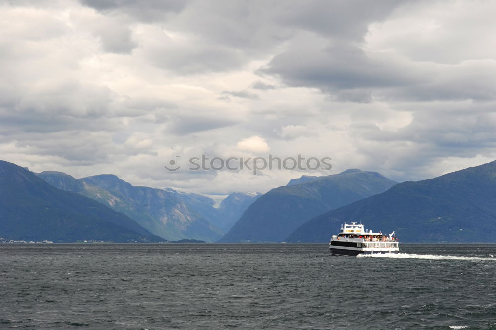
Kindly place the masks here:
MULTIPOLYGON (((220 229, 208 222, 195 207, 186 204, 174 190, 133 186, 112 174, 82 179, 61 172, 42 172, 38 176, 57 188, 85 195, 122 212, 167 240, 212 242, 222 236, 220 229)), ((185 198, 185 194, 181 195, 185 198)), ((210 202, 209 198, 197 194, 188 194, 186 199, 195 198, 210 202)))

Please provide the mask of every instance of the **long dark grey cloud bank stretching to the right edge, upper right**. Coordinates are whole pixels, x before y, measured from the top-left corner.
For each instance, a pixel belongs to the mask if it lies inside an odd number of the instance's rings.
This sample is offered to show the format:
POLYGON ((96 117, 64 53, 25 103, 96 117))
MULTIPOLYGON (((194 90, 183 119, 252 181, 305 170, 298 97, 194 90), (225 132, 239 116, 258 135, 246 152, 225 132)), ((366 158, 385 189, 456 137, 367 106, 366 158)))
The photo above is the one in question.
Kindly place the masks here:
POLYGON ((288 86, 319 88, 336 101, 496 99, 496 66, 491 60, 419 64, 371 57, 352 44, 318 46, 294 45, 259 72, 277 76, 288 86))

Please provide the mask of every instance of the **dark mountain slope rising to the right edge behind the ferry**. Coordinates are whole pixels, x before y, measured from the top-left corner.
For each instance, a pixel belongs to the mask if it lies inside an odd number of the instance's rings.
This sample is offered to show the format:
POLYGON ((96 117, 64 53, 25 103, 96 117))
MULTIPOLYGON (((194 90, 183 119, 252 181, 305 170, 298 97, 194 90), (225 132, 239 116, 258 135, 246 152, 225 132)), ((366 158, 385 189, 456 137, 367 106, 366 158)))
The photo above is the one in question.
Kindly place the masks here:
POLYGON ((364 223, 404 242, 496 242, 496 161, 386 192, 319 215, 288 242, 328 242, 344 222, 364 223))

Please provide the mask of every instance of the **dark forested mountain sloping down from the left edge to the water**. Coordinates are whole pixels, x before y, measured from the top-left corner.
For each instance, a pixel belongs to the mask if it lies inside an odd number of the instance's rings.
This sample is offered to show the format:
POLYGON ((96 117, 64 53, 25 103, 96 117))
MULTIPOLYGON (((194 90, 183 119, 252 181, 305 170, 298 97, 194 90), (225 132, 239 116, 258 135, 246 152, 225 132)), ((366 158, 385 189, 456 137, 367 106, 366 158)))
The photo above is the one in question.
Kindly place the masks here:
POLYGON ((160 242, 135 221, 0 161, 0 237, 8 240, 160 242))

